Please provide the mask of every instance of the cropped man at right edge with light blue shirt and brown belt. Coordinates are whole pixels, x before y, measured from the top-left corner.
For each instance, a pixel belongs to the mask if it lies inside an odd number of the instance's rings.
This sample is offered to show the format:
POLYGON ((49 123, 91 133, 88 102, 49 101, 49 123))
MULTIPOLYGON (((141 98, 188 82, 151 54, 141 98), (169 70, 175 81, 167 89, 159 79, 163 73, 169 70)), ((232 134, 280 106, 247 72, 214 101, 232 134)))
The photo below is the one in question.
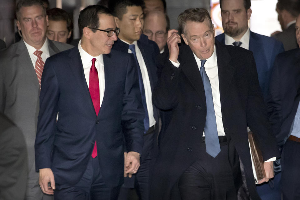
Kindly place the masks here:
MULTIPOLYGON (((300 45, 300 15, 296 20, 300 45)), ((270 80, 267 109, 281 157, 283 200, 300 199, 300 49, 277 55, 270 80)))

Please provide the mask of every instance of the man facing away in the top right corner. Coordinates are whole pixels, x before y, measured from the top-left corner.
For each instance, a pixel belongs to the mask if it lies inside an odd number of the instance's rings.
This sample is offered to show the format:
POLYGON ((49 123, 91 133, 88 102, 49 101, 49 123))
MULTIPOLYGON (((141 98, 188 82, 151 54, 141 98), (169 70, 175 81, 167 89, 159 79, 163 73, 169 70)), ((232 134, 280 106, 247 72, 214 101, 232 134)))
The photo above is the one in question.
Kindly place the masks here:
POLYGON ((295 24, 296 17, 300 14, 300 1, 278 0, 276 11, 282 32, 273 33, 271 36, 283 43, 285 51, 297 48, 295 24))

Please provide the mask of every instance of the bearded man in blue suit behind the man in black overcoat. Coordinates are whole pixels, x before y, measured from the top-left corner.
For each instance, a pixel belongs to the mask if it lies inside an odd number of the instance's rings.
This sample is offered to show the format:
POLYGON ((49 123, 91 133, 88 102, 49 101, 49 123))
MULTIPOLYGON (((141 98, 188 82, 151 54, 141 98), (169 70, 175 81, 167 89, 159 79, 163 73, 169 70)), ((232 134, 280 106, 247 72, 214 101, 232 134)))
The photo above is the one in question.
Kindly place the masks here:
POLYGON ((259 85, 265 98, 274 59, 284 48, 276 39, 250 31, 250 6, 250 0, 220 0, 224 33, 216 36, 216 39, 223 44, 240 46, 253 52, 259 85))

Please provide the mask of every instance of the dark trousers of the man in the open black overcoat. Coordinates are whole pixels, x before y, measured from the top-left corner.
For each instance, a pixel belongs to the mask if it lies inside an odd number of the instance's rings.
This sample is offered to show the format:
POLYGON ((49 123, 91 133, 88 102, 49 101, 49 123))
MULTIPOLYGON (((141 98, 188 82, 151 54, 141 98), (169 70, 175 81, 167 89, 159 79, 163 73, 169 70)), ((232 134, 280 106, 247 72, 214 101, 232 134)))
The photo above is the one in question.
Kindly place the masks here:
POLYGON ((227 141, 221 142, 220 147, 221 152, 213 158, 206 153, 205 145, 201 145, 198 159, 179 178, 182 200, 237 199, 234 174, 239 170, 239 159, 227 141))

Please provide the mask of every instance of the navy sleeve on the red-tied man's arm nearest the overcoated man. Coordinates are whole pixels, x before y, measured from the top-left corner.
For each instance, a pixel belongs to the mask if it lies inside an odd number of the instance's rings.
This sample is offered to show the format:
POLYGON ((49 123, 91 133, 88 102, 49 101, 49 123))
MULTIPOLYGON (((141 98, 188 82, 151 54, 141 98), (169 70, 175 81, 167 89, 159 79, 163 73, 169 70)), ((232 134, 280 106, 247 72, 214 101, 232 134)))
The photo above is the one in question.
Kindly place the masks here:
POLYGON ((124 86, 122 125, 126 141, 125 151, 142 154, 145 111, 138 84, 135 60, 130 56, 124 86))

